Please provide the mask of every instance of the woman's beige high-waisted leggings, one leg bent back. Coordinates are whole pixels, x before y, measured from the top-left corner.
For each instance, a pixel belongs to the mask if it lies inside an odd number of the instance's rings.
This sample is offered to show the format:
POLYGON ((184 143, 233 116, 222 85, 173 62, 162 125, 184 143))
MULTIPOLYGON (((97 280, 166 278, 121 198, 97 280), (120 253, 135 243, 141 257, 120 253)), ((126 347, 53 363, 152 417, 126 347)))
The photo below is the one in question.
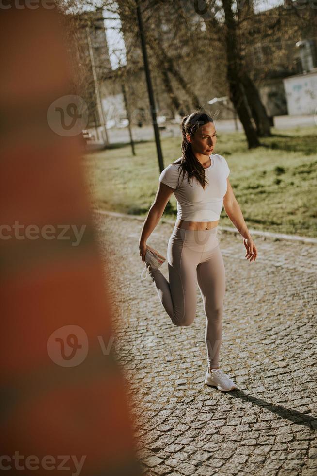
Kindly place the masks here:
POLYGON ((177 326, 195 319, 197 283, 206 315, 205 341, 209 367, 219 367, 225 270, 217 238, 210 230, 187 230, 175 225, 167 247, 169 281, 159 269, 153 281, 165 311, 177 326))

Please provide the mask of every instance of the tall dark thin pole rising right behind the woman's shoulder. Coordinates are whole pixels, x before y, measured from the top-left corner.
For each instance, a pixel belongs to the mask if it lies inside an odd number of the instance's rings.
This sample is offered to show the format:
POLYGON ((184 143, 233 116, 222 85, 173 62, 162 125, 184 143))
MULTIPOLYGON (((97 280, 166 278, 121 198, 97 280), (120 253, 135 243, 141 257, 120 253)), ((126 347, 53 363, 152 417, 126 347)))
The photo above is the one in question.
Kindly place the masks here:
POLYGON ((157 123, 157 115, 156 115, 156 107, 154 101, 154 94, 153 94, 153 87, 150 75, 149 64, 147 60, 147 51, 146 51, 146 42, 145 42, 145 35, 143 30, 143 21, 141 16, 141 8, 140 8, 140 0, 135 0, 136 7, 137 7, 137 16, 138 16, 138 23, 139 23, 139 32, 141 37, 141 45, 142 45, 142 52, 143 52, 143 62, 144 62, 144 70, 146 76, 146 83, 147 83, 147 91, 149 95, 149 102, 151 107, 152 113, 152 121, 153 121, 153 128, 154 128, 154 136, 156 142, 156 149, 159 159, 159 171, 162 172, 164 170, 164 163, 163 163, 163 154, 161 149, 161 143, 159 138, 159 127, 157 123))

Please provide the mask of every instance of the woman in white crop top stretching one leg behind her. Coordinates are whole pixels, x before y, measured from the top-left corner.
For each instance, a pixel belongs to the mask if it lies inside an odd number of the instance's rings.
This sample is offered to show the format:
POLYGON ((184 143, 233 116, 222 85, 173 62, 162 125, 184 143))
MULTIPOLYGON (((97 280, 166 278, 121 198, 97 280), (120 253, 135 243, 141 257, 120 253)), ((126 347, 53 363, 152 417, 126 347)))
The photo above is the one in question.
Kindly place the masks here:
POLYGON ((219 367, 225 270, 217 231, 223 205, 243 237, 245 257, 250 262, 255 261, 257 250, 230 185, 228 164, 222 155, 213 153, 217 142, 213 119, 201 111, 185 116, 182 134, 182 156, 159 176, 159 188, 139 240, 140 255, 144 262, 149 250, 153 252, 146 240, 174 193, 177 220, 167 247, 169 281, 159 270, 161 261, 158 266, 153 265, 153 260, 152 266, 145 261, 145 266, 162 306, 177 326, 188 326, 195 318, 198 283, 206 314, 208 369, 205 383, 230 391, 236 385, 219 367))

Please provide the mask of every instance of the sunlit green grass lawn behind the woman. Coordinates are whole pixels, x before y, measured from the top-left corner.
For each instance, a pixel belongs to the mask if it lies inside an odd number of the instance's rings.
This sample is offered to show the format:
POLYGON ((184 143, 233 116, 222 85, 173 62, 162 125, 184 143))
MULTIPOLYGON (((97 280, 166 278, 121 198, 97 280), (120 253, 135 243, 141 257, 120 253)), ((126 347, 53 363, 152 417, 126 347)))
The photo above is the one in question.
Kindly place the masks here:
MULTIPOLYGON (((219 133, 215 153, 229 165, 229 180, 249 228, 317 237, 317 128, 272 128, 261 147, 248 150, 241 132, 219 133)), ((164 166, 181 156, 181 137, 162 139, 164 166)), ((145 218, 159 185, 154 141, 85 156, 95 207, 145 218)), ((163 217, 176 219, 172 195, 163 217)), ((222 209, 220 225, 233 226, 222 209)))

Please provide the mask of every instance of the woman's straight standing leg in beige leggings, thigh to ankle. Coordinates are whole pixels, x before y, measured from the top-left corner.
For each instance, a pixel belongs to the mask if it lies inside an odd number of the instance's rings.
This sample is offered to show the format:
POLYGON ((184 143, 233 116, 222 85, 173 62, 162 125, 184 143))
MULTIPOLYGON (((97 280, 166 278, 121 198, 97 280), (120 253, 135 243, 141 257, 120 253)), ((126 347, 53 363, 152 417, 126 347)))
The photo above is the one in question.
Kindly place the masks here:
POLYGON ((225 295, 225 269, 219 243, 205 251, 197 266, 197 281, 206 314, 205 341, 208 368, 219 367, 222 342, 222 314, 225 295))

